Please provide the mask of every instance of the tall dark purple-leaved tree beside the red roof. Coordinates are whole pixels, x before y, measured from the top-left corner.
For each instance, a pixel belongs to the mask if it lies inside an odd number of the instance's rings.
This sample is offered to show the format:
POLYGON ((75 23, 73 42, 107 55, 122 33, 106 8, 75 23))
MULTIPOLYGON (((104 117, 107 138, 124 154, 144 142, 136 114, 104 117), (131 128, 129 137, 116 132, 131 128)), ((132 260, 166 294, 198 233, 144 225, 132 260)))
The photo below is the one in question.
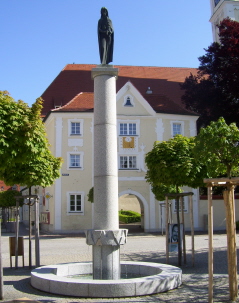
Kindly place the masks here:
POLYGON ((220 43, 212 43, 199 57, 197 75, 185 79, 182 101, 200 115, 198 127, 218 120, 223 111, 227 123, 239 114, 239 23, 229 18, 218 26, 220 43))

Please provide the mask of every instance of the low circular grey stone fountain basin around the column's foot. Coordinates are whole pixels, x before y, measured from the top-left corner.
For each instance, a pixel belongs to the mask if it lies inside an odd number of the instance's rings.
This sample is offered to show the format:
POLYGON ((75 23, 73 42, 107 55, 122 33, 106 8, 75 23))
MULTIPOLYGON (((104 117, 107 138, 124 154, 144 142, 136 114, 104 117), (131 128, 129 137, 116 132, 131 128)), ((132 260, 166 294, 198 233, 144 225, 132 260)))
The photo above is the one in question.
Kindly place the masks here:
POLYGON ((121 262, 121 272, 139 278, 89 280, 70 278, 92 274, 92 262, 42 266, 31 272, 31 285, 39 290, 65 296, 89 298, 135 297, 165 292, 182 284, 178 267, 150 262, 121 262))

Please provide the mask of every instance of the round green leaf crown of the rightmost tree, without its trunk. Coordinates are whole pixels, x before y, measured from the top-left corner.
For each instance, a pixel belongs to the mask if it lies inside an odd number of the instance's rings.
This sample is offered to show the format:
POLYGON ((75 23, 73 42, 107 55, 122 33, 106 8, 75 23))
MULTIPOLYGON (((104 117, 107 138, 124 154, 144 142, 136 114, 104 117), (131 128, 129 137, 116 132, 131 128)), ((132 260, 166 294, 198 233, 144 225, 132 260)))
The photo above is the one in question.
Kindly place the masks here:
POLYGON ((239 174, 239 129, 223 118, 200 130, 195 141, 195 158, 204 163, 210 178, 239 174))

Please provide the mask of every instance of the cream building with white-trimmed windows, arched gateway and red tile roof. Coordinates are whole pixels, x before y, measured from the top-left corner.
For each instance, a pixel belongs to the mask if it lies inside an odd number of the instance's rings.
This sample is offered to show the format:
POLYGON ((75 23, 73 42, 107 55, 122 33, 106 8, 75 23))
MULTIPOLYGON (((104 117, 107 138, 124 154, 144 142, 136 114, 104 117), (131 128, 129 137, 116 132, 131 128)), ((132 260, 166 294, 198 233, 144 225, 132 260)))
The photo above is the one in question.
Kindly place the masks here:
MULTIPOLYGON (((51 232, 80 232, 92 227, 94 204, 88 201, 87 195, 94 186, 93 67, 67 65, 42 96, 52 152, 64 159, 61 177, 53 186, 44 189, 45 202, 41 213, 45 222, 43 220, 42 229, 51 232), (78 86, 78 93, 71 99, 70 92, 77 91, 75 86, 78 86)), ((138 201, 144 230, 159 231, 164 226, 165 210, 163 201, 155 199, 145 180, 147 167, 144 158, 155 141, 169 140, 176 134, 196 135, 198 117, 182 106, 179 85, 196 70, 116 67, 119 68, 116 105, 119 201, 125 207, 134 197, 138 201)), ((196 228, 200 228, 198 191, 194 190, 194 193, 194 222, 196 228)), ((184 204, 186 225, 189 226, 188 201, 184 204)))

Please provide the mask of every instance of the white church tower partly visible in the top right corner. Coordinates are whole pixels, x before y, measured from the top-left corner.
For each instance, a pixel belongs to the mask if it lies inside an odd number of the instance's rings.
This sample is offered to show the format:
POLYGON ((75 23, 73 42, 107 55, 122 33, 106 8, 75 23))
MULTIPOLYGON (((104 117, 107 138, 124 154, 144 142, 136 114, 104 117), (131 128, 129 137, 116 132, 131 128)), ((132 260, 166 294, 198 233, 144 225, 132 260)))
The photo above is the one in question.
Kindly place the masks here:
POLYGON ((213 41, 218 42, 218 28, 223 19, 229 17, 239 22, 239 0, 210 0, 213 41))

